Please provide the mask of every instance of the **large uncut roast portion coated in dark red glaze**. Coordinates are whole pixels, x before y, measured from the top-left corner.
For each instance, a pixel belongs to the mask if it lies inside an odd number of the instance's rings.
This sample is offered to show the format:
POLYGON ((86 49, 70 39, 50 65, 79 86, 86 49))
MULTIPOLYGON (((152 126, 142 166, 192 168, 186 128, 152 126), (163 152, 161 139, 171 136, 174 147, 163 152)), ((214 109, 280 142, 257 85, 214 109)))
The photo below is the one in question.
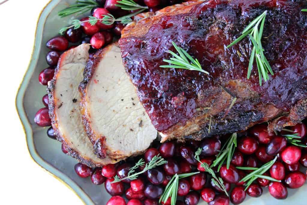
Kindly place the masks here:
POLYGON ((127 25, 119 40, 123 64, 162 142, 200 140, 271 120, 269 128, 280 130, 303 120, 307 15, 301 9, 305 7, 303 0, 189 1, 139 14, 127 25), (244 38, 230 49, 226 46, 265 10, 262 45, 274 76, 259 86, 255 64, 251 78, 246 78, 251 41, 244 38), (165 65, 163 59, 171 57, 166 51, 174 51, 172 41, 197 58, 210 75, 159 68, 165 65), (234 97, 237 100, 229 109, 234 97))

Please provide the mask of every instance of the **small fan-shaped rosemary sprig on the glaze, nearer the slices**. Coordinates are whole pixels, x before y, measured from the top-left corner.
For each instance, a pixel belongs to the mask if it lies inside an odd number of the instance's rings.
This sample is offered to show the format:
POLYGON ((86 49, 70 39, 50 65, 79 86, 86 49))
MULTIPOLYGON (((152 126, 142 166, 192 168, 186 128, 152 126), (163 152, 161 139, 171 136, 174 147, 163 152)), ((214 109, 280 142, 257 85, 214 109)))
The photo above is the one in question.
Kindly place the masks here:
POLYGON ((179 55, 177 55, 173 51, 168 50, 167 52, 172 54, 173 58, 170 58, 170 60, 163 59, 163 61, 171 65, 160 65, 160 68, 180 68, 187 70, 196 70, 209 74, 207 71, 201 68, 201 65, 197 59, 193 59, 190 54, 188 54, 183 48, 177 46, 174 41, 172 41, 172 44, 179 53, 179 55))

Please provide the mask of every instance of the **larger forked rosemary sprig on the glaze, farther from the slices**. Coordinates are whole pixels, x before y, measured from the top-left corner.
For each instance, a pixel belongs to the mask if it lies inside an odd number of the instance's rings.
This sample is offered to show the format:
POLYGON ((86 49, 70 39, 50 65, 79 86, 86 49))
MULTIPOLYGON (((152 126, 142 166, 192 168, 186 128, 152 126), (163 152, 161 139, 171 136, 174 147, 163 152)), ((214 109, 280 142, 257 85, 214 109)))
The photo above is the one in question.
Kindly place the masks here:
POLYGON ((247 35, 250 37, 252 44, 254 45, 251 58, 248 65, 247 70, 247 79, 251 77, 251 70, 253 68, 254 59, 256 59, 257 68, 258 68, 258 75, 259 75, 259 84, 262 85, 262 77, 264 81, 268 81, 270 79, 268 73, 274 75, 273 70, 264 56, 264 49, 261 44, 261 38, 263 34, 264 22, 266 19, 267 11, 263 12, 260 16, 255 18, 243 31, 242 35, 238 37, 235 41, 229 44, 226 48, 230 48, 231 46, 235 45, 239 41, 241 41, 247 35), (261 24, 260 24, 261 23, 261 24), (260 25, 260 29, 258 30, 258 26, 260 25), (254 28, 252 28, 254 26, 254 28))

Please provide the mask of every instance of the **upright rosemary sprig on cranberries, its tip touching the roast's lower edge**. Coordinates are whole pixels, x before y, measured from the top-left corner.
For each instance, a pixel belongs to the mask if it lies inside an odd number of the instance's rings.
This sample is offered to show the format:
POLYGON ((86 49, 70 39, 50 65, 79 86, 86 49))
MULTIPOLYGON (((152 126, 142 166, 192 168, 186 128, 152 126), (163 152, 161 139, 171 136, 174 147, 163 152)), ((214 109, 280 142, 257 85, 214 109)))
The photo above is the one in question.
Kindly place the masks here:
POLYGON ((211 167, 215 167, 219 164, 217 171, 220 171, 221 166, 223 165, 224 161, 227 159, 227 169, 229 169, 230 162, 232 159, 233 154, 235 153, 235 148, 237 147, 237 133, 233 133, 230 138, 226 141, 223 145, 221 151, 216 156, 216 160, 213 161, 211 167))

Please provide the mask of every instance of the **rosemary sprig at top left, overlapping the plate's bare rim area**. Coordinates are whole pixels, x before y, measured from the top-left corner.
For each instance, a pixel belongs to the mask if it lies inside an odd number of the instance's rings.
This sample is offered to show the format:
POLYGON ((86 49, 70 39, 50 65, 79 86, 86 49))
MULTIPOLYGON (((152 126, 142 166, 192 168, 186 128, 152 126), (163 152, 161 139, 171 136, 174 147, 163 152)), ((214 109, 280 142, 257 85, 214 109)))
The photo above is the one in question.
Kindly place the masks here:
POLYGON ((68 6, 66 9, 61 10, 58 15, 63 18, 72 14, 80 15, 83 14, 92 8, 98 6, 94 0, 85 0, 85 1, 76 1, 76 4, 68 6))

